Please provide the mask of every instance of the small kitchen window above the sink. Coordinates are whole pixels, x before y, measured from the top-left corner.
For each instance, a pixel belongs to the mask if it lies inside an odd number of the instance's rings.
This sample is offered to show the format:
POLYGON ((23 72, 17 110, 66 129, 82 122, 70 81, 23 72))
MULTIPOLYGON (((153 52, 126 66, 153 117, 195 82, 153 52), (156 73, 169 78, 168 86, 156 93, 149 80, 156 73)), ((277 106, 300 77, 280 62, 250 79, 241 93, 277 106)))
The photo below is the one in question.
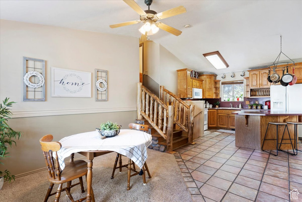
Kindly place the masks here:
POLYGON ((243 101, 243 80, 221 82, 222 101, 243 101))

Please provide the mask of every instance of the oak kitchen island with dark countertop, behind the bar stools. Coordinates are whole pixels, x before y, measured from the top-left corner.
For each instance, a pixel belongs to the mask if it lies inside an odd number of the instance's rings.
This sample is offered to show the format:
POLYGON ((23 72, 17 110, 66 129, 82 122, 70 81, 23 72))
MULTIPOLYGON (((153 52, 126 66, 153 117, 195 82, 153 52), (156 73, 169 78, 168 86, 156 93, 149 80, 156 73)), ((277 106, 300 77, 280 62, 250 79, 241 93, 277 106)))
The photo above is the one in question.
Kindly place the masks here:
MULTIPOLYGON (((261 150, 268 122, 302 121, 302 111, 235 111, 235 144, 237 147, 261 150)), ((278 126, 278 143, 281 142, 285 126, 278 126)), ((294 125, 288 124, 291 139, 294 139, 294 125)), ((268 128, 266 139, 276 138, 276 126, 268 128)), ((284 139, 288 139, 287 130, 284 139)), ((293 140, 292 140, 293 141, 293 140)), ((284 140, 282 143, 290 143, 284 140)), ((295 148, 296 145, 294 145, 295 148)), ((276 141, 265 141, 264 150, 275 150, 276 141)), ((292 149, 291 144, 282 144, 281 149, 292 149)))

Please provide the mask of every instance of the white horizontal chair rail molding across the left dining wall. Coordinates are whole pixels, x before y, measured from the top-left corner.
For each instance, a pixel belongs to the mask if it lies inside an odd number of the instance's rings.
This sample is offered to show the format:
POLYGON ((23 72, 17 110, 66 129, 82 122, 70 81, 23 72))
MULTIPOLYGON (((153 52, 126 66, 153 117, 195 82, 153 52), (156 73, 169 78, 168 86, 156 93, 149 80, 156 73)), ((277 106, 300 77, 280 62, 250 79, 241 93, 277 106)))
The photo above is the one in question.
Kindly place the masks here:
POLYGON ((122 108, 97 108, 97 109, 66 109, 66 110, 45 110, 45 111, 14 111, 11 118, 23 117, 37 117, 37 116, 55 116, 55 115, 69 115, 69 114, 92 114, 105 112, 119 112, 119 111, 136 111, 136 107, 122 107, 122 108))

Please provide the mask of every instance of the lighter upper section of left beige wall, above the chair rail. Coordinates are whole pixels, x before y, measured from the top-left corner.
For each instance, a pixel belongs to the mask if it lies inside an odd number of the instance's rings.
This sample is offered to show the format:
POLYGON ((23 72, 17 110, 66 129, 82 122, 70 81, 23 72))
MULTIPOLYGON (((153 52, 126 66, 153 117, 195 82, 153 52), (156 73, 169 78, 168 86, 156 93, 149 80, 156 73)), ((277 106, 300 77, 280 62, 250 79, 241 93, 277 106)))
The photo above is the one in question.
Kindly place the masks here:
POLYGON ((20 113, 49 110, 104 109, 136 107, 136 83, 139 82, 139 40, 24 22, 0 21, 0 100, 18 102, 20 113), (23 102, 22 56, 46 60, 46 101, 23 102), (92 72, 108 70, 108 101, 92 98, 51 97, 51 67, 92 72), (127 97, 121 101, 120 98, 127 97))

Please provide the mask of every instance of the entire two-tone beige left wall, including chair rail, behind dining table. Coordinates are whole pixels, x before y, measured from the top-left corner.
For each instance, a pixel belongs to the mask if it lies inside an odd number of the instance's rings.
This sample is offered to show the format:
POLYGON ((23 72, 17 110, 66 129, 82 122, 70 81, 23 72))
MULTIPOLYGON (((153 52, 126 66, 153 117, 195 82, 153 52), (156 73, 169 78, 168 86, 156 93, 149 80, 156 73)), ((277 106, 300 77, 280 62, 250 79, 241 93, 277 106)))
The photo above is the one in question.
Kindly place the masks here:
POLYGON ((16 175, 44 167, 39 139, 45 134, 58 141, 108 120, 122 128, 135 120, 138 38, 8 20, 0 21, 0 35, 0 101, 18 102, 8 123, 23 132, 1 170, 16 175), (46 60, 46 101, 22 101, 22 56, 46 60), (52 66, 92 72, 92 98, 51 97, 52 66), (95 68, 108 70, 108 101, 95 101, 95 68))

